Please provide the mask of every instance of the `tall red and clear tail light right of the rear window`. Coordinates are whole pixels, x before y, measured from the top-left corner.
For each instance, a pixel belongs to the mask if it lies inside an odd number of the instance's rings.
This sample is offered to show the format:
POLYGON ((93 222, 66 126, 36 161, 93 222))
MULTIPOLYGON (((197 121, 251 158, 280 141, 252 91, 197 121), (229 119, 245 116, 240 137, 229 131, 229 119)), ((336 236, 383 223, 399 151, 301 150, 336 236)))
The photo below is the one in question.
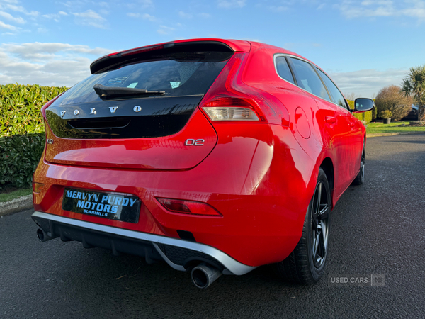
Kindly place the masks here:
POLYGON ((275 96, 242 82, 247 53, 236 52, 212 84, 200 108, 210 121, 256 121, 289 125, 289 113, 275 96))

